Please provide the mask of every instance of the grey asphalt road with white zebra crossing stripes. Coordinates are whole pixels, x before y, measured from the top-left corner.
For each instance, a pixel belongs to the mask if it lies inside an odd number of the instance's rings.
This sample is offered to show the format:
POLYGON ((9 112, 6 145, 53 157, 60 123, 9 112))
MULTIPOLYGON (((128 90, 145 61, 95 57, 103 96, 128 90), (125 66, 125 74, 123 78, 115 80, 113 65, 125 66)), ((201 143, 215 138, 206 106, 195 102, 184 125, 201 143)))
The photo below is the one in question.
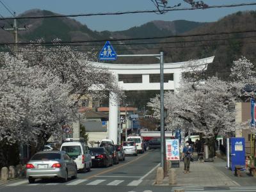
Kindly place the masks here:
POLYGON ((91 172, 78 173, 77 179, 62 183, 60 180, 15 180, 0 191, 169 191, 170 187, 152 186, 156 167, 160 163, 160 151, 150 150, 137 157, 125 157, 125 161, 108 168, 92 168, 91 172))

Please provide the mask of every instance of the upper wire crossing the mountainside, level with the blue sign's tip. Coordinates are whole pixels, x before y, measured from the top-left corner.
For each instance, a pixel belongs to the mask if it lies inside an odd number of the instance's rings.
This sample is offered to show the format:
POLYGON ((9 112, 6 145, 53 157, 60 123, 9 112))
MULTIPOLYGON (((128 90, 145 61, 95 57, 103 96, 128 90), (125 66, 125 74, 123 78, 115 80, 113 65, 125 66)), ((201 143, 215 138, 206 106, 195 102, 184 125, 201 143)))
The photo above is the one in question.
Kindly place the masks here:
POLYGON ((19 42, 15 43, 1 43, 0 45, 60 45, 60 44, 75 44, 75 43, 90 43, 90 42, 106 42, 106 41, 127 41, 127 40, 153 40, 153 39, 163 39, 163 38, 182 38, 182 37, 193 37, 193 36, 207 36, 207 35, 231 35, 231 34, 239 34, 239 33, 252 33, 256 32, 256 30, 247 30, 247 31, 231 31, 231 32, 220 32, 220 33, 201 33, 195 35, 170 35, 170 36, 152 36, 145 38, 116 38, 116 39, 104 39, 104 40, 86 40, 86 41, 66 41, 66 42, 19 42))

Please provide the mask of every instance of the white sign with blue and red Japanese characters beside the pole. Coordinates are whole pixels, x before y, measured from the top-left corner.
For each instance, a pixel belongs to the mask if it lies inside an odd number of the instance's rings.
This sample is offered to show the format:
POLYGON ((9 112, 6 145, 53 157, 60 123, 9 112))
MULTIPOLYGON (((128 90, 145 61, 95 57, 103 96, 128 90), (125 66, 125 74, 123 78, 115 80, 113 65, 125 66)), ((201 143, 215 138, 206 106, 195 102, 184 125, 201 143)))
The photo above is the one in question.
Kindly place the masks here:
POLYGON ((166 159, 170 161, 180 160, 179 140, 166 140, 166 159))

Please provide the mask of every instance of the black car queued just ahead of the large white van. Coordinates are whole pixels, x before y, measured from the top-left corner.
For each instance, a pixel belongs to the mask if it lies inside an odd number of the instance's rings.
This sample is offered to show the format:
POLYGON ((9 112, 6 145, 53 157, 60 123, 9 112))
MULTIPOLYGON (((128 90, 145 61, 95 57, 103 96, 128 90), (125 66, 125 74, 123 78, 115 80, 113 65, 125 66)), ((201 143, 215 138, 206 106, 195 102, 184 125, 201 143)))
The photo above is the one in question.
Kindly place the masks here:
POLYGON ((90 154, 92 156, 92 166, 112 166, 113 159, 108 150, 104 147, 90 148, 90 154))

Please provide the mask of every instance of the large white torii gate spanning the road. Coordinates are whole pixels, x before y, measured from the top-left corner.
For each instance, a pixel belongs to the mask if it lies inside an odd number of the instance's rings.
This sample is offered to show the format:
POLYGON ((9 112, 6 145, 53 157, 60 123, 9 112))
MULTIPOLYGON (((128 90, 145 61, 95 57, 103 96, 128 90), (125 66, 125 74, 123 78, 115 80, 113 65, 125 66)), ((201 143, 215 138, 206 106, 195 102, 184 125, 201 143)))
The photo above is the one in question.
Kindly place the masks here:
MULTIPOLYGON (((209 63, 212 63, 214 56, 196 60, 195 63, 207 68, 209 63)), ((164 83, 164 90, 176 90, 179 87, 182 67, 188 64, 189 61, 179 63, 164 63, 164 74, 173 74, 173 81, 164 83)), ((108 68, 113 72, 118 81, 119 74, 141 74, 142 83, 124 83, 119 81, 118 85, 124 91, 131 90, 160 90, 160 83, 150 83, 150 74, 160 74, 160 65, 157 64, 111 64, 111 63, 92 63, 97 68, 108 68)), ((109 94, 109 139, 117 143, 118 138, 118 101, 113 93, 109 94)))

